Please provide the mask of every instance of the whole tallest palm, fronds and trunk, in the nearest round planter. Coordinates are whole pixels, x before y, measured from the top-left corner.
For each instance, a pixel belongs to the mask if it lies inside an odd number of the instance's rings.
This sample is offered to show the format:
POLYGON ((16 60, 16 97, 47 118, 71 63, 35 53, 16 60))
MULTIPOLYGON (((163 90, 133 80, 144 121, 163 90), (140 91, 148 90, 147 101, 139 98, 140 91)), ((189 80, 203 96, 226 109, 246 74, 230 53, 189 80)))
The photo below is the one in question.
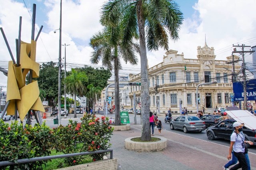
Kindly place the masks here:
POLYGON ((168 33, 171 40, 178 39, 182 12, 173 0, 110 0, 102 8, 101 21, 105 25, 115 25, 119 20, 124 23, 124 41, 134 36, 134 30, 140 38, 141 140, 150 141, 146 42, 149 51, 158 50, 158 47, 168 50, 168 33))

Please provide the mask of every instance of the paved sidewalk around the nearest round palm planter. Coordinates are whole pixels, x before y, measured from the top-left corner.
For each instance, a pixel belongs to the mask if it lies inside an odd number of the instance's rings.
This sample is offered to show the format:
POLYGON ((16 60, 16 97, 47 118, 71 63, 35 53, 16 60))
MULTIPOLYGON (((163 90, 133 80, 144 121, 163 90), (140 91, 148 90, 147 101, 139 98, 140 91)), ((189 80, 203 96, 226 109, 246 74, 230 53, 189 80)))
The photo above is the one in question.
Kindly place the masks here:
MULTIPOLYGON (((154 133, 157 137, 158 131, 154 133)), ((129 131, 113 132, 110 143, 118 170, 222 170, 228 162, 229 147, 164 130, 160 135, 168 140, 168 148, 163 151, 135 152, 124 148, 124 139, 140 135, 141 126, 133 124, 129 131)), ((256 170, 256 154, 249 153, 249 158, 251 170, 256 170)))

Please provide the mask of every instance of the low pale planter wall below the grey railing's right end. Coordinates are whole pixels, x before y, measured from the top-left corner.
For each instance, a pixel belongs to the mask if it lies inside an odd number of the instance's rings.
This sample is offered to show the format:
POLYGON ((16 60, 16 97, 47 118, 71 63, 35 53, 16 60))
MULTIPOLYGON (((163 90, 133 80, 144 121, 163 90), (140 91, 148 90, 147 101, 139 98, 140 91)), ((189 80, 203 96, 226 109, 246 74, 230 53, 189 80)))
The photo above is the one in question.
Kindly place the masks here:
POLYGON ((117 170, 117 158, 104 159, 87 164, 69 166, 58 170, 117 170))

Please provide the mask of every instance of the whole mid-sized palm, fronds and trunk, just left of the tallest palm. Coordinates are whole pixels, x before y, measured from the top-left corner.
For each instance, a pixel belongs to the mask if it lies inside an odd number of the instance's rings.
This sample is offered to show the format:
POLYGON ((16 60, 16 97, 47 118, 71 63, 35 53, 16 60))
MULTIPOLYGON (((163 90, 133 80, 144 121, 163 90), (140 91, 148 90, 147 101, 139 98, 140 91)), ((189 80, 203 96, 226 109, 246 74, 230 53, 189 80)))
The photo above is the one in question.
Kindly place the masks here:
POLYGON ((112 70, 114 67, 115 79, 115 125, 120 125, 120 98, 119 98, 119 76, 120 58, 131 64, 137 64, 138 59, 135 56, 135 51, 138 51, 138 45, 133 43, 132 39, 122 43, 121 24, 115 27, 107 26, 104 30, 96 33, 90 39, 90 46, 94 49, 91 56, 91 63, 98 64, 100 59, 102 65, 112 70))

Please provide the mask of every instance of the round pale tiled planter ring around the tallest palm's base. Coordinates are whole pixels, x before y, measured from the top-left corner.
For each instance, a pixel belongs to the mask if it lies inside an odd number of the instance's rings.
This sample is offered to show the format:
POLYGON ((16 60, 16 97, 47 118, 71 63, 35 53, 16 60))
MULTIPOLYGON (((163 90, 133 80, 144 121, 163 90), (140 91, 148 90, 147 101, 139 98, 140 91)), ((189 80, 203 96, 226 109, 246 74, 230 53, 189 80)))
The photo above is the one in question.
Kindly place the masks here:
POLYGON ((160 141, 156 142, 134 142, 131 140, 133 138, 136 137, 129 137, 124 140, 124 147, 126 149, 134 151, 151 152, 160 151, 167 148, 167 139, 164 137, 156 137, 160 139, 160 141))

